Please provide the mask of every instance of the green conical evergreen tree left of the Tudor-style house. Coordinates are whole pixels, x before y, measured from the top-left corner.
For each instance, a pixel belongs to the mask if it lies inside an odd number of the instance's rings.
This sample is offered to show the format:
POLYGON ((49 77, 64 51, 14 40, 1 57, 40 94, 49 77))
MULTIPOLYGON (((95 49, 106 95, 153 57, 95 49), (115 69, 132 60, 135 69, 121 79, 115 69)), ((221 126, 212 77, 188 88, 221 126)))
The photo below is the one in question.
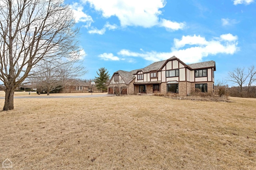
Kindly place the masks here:
POLYGON ((104 90, 108 89, 106 84, 109 80, 109 74, 108 74, 107 69, 105 69, 105 67, 103 67, 103 68, 101 67, 99 69, 99 72, 98 71, 96 71, 96 72, 99 76, 99 77, 95 77, 96 88, 98 90, 101 90, 103 93, 104 90))

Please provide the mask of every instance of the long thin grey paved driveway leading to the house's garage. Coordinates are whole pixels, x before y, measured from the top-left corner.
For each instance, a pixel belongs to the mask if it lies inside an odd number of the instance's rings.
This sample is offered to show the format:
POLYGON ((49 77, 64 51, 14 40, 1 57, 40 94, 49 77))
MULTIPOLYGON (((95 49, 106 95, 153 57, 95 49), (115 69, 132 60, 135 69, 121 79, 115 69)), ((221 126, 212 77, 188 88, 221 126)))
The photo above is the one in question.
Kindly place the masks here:
MULTIPOLYGON (((42 99, 42 98, 50 98, 50 99, 60 99, 60 98, 81 98, 81 97, 106 97, 106 96, 114 96, 114 95, 82 95, 82 96, 14 96, 14 99, 42 99)), ((0 97, 0 99, 4 99, 4 97, 0 97)))

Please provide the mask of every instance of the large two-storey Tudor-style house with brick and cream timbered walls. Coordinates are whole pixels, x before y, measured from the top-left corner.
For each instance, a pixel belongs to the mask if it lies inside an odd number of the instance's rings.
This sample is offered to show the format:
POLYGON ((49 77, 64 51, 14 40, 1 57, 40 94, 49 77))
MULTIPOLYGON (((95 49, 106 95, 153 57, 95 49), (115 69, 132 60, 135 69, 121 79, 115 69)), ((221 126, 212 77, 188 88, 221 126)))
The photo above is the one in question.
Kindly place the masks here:
POLYGON ((173 56, 158 61, 143 69, 133 71, 116 71, 108 87, 108 93, 115 93, 121 86, 123 94, 178 93, 189 95, 198 88, 202 92, 214 91, 215 61, 185 64, 173 56))

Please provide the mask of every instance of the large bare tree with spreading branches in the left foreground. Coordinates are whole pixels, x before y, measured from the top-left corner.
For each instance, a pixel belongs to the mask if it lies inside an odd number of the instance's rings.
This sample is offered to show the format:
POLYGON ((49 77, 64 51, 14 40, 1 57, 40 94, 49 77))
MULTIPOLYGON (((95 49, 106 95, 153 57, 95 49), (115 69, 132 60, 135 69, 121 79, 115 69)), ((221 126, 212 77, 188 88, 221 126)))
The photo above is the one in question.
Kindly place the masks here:
POLYGON ((0 81, 4 111, 14 109, 14 89, 40 61, 58 63, 80 57, 78 29, 62 0, 1 0, 0 81))

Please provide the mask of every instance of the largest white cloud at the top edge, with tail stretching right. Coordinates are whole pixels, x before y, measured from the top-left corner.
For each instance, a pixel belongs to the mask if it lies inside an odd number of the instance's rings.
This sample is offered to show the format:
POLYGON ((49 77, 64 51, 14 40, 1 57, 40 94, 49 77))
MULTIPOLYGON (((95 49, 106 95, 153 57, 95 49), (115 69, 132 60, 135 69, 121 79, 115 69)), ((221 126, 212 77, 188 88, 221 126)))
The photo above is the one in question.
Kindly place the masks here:
POLYGON ((184 28, 184 23, 172 22, 161 19, 161 8, 164 8, 166 0, 82 0, 89 2, 91 6, 102 13, 104 18, 116 16, 122 27, 152 26, 165 27, 168 30, 184 28))

